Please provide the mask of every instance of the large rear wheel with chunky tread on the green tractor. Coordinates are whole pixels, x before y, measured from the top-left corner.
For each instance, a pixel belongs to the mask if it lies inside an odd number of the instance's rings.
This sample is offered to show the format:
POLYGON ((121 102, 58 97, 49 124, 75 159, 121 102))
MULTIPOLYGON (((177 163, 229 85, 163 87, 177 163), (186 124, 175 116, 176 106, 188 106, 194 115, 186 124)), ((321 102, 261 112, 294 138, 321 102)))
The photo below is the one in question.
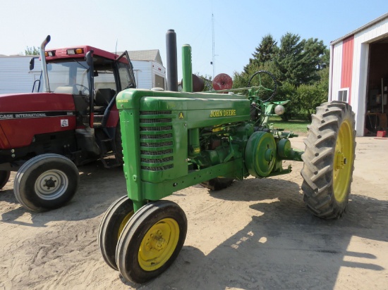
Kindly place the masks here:
POLYGON ((303 200, 318 217, 338 218, 351 191, 356 132, 348 103, 332 101, 317 107, 308 126, 301 175, 303 200))

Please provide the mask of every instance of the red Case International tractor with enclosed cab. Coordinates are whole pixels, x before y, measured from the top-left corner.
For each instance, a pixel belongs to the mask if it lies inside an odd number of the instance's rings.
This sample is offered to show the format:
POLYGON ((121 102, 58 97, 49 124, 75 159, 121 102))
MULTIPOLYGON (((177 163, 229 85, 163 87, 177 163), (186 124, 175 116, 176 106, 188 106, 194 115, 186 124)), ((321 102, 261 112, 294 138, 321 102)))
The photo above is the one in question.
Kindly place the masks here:
POLYGON ((97 159, 107 168, 122 164, 116 94, 136 87, 126 51, 121 56, 91 46, 44 51, 49 41, 47 36, 40 46, 37 92, 0 95, 0 188, 18 171, 13 191, 32 211, 71 200, 77 165, 97 159))

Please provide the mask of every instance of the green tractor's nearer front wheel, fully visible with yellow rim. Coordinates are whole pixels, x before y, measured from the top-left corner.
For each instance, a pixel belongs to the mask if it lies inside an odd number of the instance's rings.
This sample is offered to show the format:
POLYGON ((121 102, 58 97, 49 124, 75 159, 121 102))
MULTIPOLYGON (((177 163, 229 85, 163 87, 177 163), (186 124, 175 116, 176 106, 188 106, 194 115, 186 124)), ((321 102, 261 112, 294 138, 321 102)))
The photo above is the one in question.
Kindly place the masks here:
POLYGON ((116 263, 124 279, 144 283, 164 272, 186 239, 187 220, 172 201, 155 201, 140 208, 121 232, 116 263))

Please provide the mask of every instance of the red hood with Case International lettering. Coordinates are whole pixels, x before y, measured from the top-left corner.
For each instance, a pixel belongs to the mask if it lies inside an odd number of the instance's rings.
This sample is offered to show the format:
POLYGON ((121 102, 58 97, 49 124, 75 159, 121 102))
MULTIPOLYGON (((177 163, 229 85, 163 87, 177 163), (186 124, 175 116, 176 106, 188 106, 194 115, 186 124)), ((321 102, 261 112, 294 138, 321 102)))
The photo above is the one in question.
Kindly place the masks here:
POLYGON ((37 135, 75 130, 71 94, 0 95, 0 150, 32 144, 37 135))

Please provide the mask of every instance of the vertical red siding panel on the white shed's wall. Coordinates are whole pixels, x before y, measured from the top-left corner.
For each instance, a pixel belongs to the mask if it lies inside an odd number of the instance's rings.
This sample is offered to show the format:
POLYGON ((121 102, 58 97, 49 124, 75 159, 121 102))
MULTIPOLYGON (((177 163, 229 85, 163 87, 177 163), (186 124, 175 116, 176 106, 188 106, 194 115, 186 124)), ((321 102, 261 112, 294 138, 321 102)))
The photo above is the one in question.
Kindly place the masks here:
POLYGON ((348 103, 351 104, 351 75, 353 71, 354 35, 342 42, 341 89, 349 88, 348 103))

